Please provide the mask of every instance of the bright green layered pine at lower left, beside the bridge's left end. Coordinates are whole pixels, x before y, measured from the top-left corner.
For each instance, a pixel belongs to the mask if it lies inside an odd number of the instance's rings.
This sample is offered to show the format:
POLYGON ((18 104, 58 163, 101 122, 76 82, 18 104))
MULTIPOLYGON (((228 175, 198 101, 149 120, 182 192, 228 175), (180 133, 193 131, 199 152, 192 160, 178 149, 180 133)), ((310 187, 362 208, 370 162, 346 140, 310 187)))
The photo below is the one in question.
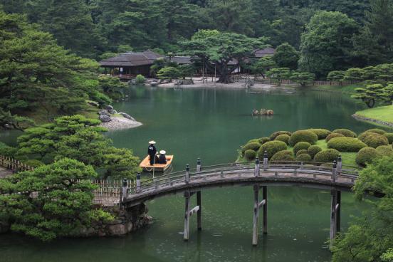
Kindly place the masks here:
POLYGON ((42 241, 75 234, 82 226, 90 225, 93 218, 111 219, 93 208, 96 187, 86 179, 95 177, 93 167, 73 159, 61 159, 33 172, 1 179, 0 217, 11 221, 12 231, 42 241))

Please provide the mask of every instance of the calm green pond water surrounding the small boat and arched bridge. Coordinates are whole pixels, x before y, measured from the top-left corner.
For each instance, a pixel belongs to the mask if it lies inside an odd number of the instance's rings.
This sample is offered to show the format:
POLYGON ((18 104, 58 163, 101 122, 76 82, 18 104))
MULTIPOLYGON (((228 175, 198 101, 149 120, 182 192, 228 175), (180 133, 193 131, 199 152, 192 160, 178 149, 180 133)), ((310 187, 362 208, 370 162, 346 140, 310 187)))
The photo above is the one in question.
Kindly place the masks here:
MULTIPOLYGON (((132 88, 130 99, 115 103, 142 127, 108 132, 115 146, 145 157, 147 142, 174 154, 174 170, 196 164, 234 162, 240 145, 277 130, 372 127, 350 116, 362 108, 338 93, 285 90, 132 88), (272 109, 273 117, 251 117, 253 108, 272 109)), ((4 132, 2 141, 14 140, 4 132)), ((195 199, 193 199, 193 205, 195 199)), ((251 246, 253 189, 223 187, 202 192, 202 227, 192 217, 190 240, 182 240, 181 194, 147 202, 154 224, 122 238, 61 239, 40 243, 23 236, 0 236, 0 261, 330 261, 325 241, 330 226, 330 192, 301 187, 268 188, 268 235, 251 246)), ((342 228, 365 210, 352 194, 342 194, 342 228)))

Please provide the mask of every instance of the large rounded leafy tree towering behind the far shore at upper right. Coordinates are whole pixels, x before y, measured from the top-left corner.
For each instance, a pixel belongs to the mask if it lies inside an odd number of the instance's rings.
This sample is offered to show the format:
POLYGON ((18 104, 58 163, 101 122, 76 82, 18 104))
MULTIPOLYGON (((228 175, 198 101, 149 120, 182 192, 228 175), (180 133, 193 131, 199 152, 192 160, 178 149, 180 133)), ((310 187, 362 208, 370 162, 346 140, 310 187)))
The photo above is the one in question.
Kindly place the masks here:
POLYGON ((353 19, 340 12, 317 12, 301 36, 299 68, 325 77, 331 70, 352 66, 353 19), (328 28, 328 29, 327 29, 328 28))

